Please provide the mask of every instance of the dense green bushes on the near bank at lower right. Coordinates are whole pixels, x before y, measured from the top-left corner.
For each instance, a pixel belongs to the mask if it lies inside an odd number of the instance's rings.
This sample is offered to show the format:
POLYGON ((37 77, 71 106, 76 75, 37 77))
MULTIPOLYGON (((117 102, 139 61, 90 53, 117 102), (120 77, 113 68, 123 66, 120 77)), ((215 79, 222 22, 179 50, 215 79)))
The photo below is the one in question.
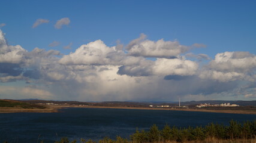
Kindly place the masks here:
POLYGON ((131 135, 131 141, 134 143, 143 142, 186 142, 186 141, 203 141, 206 138, 216 139, 255 139, 256 121, 245 122, 241 125, 234 120, 230 121, 229 126, 210 123, 204 127, 196 126, 195 128, 180 128, 176 126, 170 128, 165 125, 162 130, 159 130, 156 125, 151 126, 149 131, 136 130, 131 135))

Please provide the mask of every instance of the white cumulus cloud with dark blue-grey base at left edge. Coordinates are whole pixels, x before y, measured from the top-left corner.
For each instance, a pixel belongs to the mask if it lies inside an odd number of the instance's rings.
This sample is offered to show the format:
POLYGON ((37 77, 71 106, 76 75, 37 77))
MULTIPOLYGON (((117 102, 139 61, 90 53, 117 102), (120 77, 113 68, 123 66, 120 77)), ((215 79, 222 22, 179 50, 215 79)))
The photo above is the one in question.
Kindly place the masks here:
POLYGON ((0 82, 45 78, 43 71, 57 63, 59 51, 35 48, 26 51, 20 45, 8 45, 0 30, 0 82))

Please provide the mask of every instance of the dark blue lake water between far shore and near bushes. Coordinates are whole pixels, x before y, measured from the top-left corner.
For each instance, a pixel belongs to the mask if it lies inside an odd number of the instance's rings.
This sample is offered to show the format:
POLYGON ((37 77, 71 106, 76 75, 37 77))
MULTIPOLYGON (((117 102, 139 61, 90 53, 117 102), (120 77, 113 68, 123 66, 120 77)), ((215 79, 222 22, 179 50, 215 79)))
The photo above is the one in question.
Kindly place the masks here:
POLYGON ((170 126, 188 127, 223 123, 231 120, 256 120, 256 115, 203 113, 166 110, 128 110, 107 108, 66 108, 59 113, 0 114, 0 143, 54 142, 63 136, 70 139, 115 138, 129 135, 138 129, 149 129, 156 124, 160 129, 170 126))

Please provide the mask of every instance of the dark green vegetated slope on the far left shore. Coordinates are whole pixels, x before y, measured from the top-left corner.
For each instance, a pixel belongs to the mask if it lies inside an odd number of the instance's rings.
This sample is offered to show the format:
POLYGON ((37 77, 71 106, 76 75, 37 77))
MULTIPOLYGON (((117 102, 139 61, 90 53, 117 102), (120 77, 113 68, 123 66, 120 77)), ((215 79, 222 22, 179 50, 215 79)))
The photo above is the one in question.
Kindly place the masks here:
POLYGON ((7 101, 7 100, 0 100, 0 107, 21 107, 21 108, 46 108, 41 105, 37 104, 29 104, 26 102, 18 102, 18 101, 7 101))

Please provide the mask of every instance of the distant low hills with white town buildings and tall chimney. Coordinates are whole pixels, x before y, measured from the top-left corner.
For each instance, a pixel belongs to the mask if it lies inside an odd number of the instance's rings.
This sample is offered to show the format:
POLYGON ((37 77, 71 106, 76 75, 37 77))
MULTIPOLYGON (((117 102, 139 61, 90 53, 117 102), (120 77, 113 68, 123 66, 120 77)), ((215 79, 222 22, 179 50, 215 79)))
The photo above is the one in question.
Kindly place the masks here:
POLYGON ((80 107, 135 107, 135 108, 183 108, 183 109, 211 109, 211 110, 254 110, 256 101, 185 101, 185 102, 135 102, 135 101, 103 101, 103 102, 80 102, 80 101, 46 101, 25 100, 32 104, 40 105, 76 105, 80 107))

